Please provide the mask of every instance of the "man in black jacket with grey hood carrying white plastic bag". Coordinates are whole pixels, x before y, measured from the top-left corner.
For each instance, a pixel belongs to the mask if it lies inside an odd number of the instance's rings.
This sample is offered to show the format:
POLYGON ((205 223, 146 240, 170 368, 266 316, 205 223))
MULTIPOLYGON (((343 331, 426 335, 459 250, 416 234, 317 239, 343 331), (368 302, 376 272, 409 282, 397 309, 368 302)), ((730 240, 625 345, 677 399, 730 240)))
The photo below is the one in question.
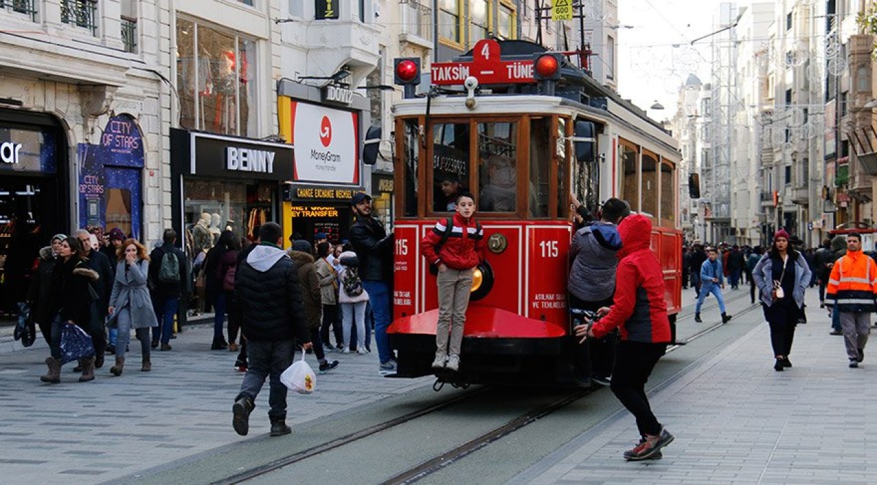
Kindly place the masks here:
POLYGON ((291 430, 286 425, 288 389, 280 382, 280 374, 292 364, 296 339, 303 351, 312 344, 298 269, 281 248, 282 228, 267 223, 260 226, 259 237, 260 245, 253 247, 235 273, 234 293, 240 304, 249 367, 232 406, 232 427, 241 436, 249 432, 256 396, 270 376, 271 436, 282 436, 291 430))

